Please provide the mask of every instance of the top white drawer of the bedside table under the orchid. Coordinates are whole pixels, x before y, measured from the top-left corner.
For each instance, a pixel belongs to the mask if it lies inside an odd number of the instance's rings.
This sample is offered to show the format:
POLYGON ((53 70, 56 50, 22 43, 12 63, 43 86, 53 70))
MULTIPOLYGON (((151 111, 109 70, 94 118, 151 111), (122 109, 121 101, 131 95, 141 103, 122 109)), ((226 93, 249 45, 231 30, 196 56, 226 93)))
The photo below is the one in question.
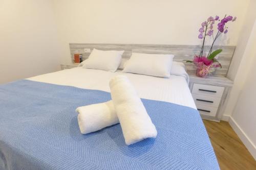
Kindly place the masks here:
POLYGON ((204 95, 212 95, 221 98, 222 93, 224 91, 224 87, 220 86, 211 86, 205 84, 194 84, 192 93, 204 94, 204 95))

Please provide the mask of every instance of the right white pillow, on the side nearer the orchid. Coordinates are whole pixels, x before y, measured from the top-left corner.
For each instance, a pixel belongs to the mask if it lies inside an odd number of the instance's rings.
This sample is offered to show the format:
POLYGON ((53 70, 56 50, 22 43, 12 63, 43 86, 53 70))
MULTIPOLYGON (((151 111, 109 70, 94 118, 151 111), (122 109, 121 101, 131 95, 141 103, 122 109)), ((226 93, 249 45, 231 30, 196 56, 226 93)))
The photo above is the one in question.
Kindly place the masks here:
POLYGON ((174 55, 169 54, 142 54, 132 53, 123 72, 132 72, 141 75, 156 77, 170 77, 174 55))

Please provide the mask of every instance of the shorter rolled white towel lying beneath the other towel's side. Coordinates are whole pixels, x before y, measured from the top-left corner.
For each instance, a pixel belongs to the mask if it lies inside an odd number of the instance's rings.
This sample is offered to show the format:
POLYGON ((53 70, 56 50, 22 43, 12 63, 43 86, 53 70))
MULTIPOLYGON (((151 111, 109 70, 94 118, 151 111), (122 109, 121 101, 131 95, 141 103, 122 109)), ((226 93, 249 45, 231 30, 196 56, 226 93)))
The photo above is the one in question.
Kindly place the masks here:
POLYGON ((78 107, 78 125, 82 134, 98 131, 119 123, 112 101, 78 107))

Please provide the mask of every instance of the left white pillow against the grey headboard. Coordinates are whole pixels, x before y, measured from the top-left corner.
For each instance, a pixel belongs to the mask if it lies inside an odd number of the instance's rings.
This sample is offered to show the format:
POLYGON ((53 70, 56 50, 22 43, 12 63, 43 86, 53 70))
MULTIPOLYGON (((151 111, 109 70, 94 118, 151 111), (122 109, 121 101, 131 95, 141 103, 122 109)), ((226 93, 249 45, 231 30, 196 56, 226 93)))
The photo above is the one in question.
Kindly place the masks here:
POLYGON ((120 65, 124 51, 101 51, 93 49, 83 68, 102 69, 115 72, 120 65))

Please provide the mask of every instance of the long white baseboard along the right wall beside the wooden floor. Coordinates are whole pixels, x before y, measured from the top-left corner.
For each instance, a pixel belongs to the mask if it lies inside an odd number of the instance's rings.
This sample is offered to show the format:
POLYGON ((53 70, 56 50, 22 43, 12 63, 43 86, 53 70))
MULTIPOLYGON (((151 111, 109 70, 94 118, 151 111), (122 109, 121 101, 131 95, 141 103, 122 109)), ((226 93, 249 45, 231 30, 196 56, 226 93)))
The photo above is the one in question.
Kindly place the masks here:
POLYGON ((255 147, 255 145, 248 138, 248 136, 244 133, 244 131, 240 128, 240 126, 237 124, 237 122, 232 118, 232 116, 230 116, 230 118, 229 118, 229 125, 233 128, 234 132, 237 133, 239 138, 244 143, 245 147, 248 149, 250 154, 256 160, 256 147, 255 147))

